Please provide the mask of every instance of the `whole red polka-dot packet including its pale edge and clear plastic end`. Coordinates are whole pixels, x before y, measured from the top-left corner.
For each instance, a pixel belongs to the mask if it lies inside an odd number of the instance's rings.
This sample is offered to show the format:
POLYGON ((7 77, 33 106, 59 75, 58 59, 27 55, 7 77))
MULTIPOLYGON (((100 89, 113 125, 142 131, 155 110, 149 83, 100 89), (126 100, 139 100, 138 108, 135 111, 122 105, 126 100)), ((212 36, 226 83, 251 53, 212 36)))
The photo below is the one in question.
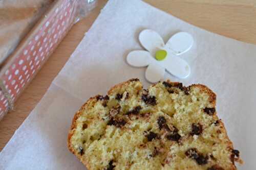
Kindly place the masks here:
POLYGON ((95 3, 59 0, 37 22, 0 70, 0 120, 53 53, 58 43, 95 3), (82 9, 81 9, 82 7, 82 9))

